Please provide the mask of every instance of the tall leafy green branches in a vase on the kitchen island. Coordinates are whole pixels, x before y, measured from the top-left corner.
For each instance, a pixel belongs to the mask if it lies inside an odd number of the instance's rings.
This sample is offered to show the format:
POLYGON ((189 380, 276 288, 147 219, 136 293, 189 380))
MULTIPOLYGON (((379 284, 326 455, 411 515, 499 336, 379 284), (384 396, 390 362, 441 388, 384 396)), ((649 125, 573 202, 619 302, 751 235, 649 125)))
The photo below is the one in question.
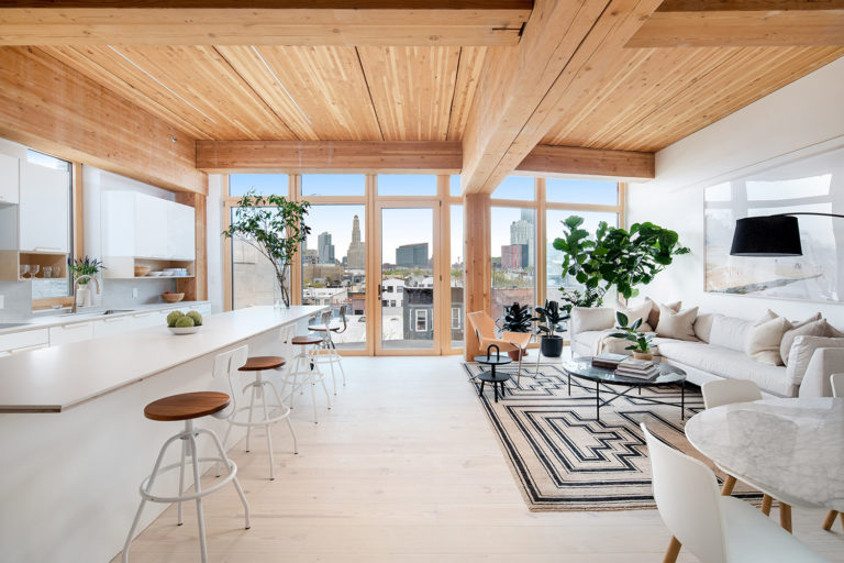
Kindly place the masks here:
POLYGON ((311 232, 304 224, 310 207, 308 201, 258 196, 249 190, 237 202, 232 225, 222 233, 226 239, 236 236, 249 244, 273 264, 285 307, 290 307, 290 264, 311 232))

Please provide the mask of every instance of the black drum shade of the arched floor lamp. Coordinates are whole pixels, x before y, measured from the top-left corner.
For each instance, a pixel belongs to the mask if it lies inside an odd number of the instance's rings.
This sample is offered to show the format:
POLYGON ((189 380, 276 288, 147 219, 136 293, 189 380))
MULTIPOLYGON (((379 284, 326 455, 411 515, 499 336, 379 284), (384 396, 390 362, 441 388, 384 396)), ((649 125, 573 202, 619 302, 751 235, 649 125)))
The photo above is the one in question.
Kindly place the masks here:
POLYGON ((732 256, 802 256, 800 230, 791 216, 747 217, 735 222, 732 256))

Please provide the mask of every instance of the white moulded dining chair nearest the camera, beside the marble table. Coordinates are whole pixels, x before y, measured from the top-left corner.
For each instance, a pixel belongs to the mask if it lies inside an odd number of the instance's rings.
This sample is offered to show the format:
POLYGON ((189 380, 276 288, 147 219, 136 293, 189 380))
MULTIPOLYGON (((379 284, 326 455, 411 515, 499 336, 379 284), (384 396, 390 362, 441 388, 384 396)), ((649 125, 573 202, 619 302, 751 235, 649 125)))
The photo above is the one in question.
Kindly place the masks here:
POLYGON ((686 547, 703 563, 826 561, 747 503, 723 496, 712 470, 647 431, 654 499, 674 537, 664 563, 686 547))

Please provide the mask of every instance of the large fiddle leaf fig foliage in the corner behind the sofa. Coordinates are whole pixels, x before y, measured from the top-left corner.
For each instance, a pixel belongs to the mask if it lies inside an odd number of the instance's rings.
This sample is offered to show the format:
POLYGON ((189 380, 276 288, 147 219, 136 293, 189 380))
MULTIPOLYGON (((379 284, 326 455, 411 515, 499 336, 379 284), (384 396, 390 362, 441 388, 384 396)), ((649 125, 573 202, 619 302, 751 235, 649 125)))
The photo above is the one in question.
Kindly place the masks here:
POLYGON ((691 252, 675 231, 651 222, 634 223, 628 231, 601 221, 593 236, 582 224, 581 217, 567 218, 563 236, 554 240, 554 247, 563 252, 564 276, 582 285, 559 288, 566 312, 573 307, 600 307, 613 286, 624 299, 635 297, 636 286, 653 282, 674 256, 691 252))

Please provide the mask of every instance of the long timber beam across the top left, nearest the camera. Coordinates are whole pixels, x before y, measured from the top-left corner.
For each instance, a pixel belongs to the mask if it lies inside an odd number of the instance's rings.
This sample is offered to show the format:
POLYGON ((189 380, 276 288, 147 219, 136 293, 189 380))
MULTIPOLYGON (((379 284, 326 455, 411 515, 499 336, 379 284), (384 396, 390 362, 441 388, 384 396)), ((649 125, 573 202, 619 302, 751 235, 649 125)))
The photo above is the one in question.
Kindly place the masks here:
POLYGON ((4 0, 0 45, 515 45, 530 0, 4 0))

